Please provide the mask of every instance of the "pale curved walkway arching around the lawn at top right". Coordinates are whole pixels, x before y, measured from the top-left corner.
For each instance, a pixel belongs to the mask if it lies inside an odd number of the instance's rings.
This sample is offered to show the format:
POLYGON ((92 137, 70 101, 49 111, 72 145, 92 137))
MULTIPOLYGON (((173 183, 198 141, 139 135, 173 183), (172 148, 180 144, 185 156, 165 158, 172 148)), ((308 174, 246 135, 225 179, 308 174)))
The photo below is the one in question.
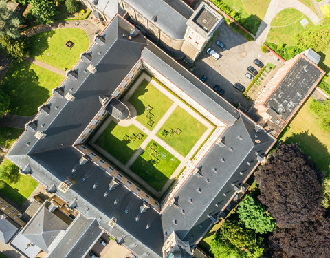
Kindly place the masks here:
POLYGON ((296 10, 303 12, 312 23, 318 24, 320 18, 315 14, 313 10, 300 3, 298 0, 272 0, 270 1, 270 6, 268 6, 265 18, 259 26, 258 32, 256 32, 256 43, 263 45, 265 42, 268 32, 270 32, 270 23, 272 19, 285 8, 295 8, 296 10))

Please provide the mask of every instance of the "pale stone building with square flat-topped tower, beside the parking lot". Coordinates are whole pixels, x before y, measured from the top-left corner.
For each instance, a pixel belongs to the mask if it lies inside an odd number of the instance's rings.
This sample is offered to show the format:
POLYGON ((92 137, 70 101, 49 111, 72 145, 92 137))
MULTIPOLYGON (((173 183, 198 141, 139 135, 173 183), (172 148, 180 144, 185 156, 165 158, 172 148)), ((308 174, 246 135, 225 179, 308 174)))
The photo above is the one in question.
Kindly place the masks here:
MULTIPOLYGON (((111 21, 117 12, 127 12, 129 18, 155 43, 175 58, 195 61, 211 36, 223 23, 221 15, 206 3, 192 10, 181 0, 83 0, 94 10, 111 21)), ((96 13, 97 12, 97 13, 96 13)))

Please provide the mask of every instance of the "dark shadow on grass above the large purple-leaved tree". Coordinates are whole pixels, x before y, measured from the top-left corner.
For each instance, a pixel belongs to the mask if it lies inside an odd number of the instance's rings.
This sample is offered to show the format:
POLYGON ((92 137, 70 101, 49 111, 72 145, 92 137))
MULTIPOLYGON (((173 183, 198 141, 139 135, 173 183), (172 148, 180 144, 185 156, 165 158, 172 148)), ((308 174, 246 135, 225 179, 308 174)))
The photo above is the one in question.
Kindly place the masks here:
POLYGON ((314 134, 309 134, 308 131, 294 133, 285 139, 285 143, 298 143, 300 149, 311 158, 328 178, 330 176, 330 153, 327 146, 320 142, 314 134))

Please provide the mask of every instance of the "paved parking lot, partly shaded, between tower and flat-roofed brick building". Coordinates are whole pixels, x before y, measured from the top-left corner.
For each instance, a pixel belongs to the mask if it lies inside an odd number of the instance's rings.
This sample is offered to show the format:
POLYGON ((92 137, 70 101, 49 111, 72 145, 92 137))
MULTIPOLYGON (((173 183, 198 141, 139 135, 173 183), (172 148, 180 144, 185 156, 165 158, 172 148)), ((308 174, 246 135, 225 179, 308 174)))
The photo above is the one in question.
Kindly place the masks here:
POLYGON ((265 54, 261 51, 260 45, 254 41, 248 41, 244 36, 238 32, 232 31, 232 29, 222 24, 219 28, 219 35, 212 42, 210 47, 221 55, 219 60, 215 60, 212 56, 206 53, 206 50, 199 56, 195 62, 192 73, 201 78, 206 75, 206 85, 214 87, 214 85, 220 85, 221 89, 224 89, 225 93, 223 98, 228 100, 232 105, 239 105, 248 109, 252 104, 252 100, 248 100, 243 96, 242 92, 235 89, 233 85, 235 83, 241 83, 243 86, 248 87, 251 80, 245 77, 248 72, 248 66, 254 67, 258 72, 260 68, 254 65, 254 59, 259 59, 265 65, 268 62, 274 65, 281 65, 281 61, 278 61, 276 56, 268 53, 265 54), (216 41, 219 40, 225 44, 225 50, 216 45, 216 41))

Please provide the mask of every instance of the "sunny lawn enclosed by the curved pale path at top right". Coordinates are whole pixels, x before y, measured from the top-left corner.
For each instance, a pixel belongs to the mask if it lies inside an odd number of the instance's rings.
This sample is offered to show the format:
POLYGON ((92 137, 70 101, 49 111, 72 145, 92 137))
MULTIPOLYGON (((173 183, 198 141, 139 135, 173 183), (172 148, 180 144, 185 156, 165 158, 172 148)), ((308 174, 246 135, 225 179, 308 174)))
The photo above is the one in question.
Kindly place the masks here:
POLYGON ((267 42, 276 44, 294 45, 294 34, 299 30, 303 30, 303 25, 300 21, 306 18, 308 24, 305 28, 314 26, 305 14, 294 8, 287 8, 278 12, 272 20, 270 32, 267 35, 267 42))

